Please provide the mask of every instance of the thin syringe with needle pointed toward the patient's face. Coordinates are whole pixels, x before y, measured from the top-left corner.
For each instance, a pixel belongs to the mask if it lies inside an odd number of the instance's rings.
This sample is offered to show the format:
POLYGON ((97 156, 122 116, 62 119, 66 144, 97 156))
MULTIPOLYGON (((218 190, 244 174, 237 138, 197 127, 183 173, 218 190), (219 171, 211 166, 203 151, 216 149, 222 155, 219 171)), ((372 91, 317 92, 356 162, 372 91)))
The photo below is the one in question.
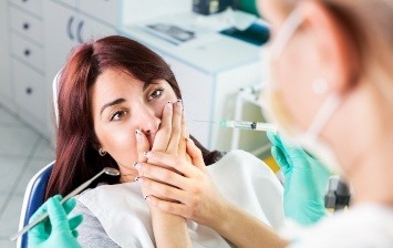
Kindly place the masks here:
POLYGON ((262 123, 262 122, 245 122, 245 121, 199 121, 193 120, 194 122, 207 122, 207 123, 215 123, 220 126, 231 127, 231 128, 240 128, 240 130, 252 130, 252 131, 271 131, 277 133, 277 126, 271 123, 262 123))

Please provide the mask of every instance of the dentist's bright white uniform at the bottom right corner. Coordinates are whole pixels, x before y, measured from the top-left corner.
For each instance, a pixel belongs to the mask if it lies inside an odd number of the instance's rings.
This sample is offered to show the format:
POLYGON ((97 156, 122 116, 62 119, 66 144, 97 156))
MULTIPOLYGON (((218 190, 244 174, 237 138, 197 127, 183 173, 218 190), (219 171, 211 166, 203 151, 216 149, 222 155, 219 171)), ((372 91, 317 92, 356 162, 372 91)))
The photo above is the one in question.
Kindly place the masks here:
POLYGON ((287 228, 290 248, 392 248, 393 208, 359 205, 299 231, 287 228))

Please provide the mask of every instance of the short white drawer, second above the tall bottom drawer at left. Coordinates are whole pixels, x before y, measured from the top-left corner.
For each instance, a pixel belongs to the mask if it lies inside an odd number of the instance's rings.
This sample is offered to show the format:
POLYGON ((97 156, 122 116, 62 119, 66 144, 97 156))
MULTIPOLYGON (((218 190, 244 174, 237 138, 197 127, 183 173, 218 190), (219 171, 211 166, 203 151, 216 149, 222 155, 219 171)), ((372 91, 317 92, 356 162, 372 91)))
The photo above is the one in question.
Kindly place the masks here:
POLYGON ((37 18, 23 13, 14 8, 11 11, 11 27, 12 30, 20 32, 30 39, 41 43, 42 42, 42 22, 37 18))

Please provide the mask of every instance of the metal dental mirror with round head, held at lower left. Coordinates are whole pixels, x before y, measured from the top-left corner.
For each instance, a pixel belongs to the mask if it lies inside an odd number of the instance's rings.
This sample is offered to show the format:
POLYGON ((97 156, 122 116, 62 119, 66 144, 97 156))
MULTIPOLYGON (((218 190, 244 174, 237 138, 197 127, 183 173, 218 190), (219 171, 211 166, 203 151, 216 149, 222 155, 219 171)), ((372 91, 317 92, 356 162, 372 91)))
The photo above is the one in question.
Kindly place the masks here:
MULTIPOLYGON (((95 176, 93 176, 91 179, 86 180, 85 183, 83 183, 82 185, 80 185, 77 188, 75 188, 74 190, 72 190, 69 195, 66 195, 60 203, 64 204, 66 200, 69 200, 70 198, 74 197, 75 195, 77 195, 79 193, 81 193, 83 189, 85 189, 93 180, 95 180, 99 176, 101 176, 102 174, 106 174, 110 176, 118 176, 120 172, 116 168, 111 168, 111 167, 105 167, 103 168, 100 173, 97 173, 95 176)), ((10 237, 11 241, 14 241, 17 238, 19 238, 21 235, 23 235, 24 232, 27 232, 28 230, 30 230, 31 228, 33 228, 37 224, 41 223, 42 220, 44 220, 45 218, 48 218, 49 214, 44 214, 41 217, 37 218, 34 221, 30 223, 29 225, 24 226, 20 231, 18 231, 17 234, 12 235, 10 237)))

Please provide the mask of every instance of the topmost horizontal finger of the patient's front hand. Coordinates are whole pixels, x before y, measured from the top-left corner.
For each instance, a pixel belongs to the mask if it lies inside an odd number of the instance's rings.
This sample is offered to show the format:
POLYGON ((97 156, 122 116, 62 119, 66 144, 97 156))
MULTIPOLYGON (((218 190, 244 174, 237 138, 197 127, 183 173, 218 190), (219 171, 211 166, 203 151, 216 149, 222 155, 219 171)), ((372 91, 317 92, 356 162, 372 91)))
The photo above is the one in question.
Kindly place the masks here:
MULTIPOLYGON (((192 166, 190 164, 188 164, 184 159, 178 158, 175 155, 151 151, 145 153, 145 156, 148 158, 148 163, 157 165, 156 167, 169 168, 183 174, 186 177, 192 177, 195 173, 195 166, 192 166)), ((141 165, 143 168, 144 165, 149 164, 142 163, 141 165)))

